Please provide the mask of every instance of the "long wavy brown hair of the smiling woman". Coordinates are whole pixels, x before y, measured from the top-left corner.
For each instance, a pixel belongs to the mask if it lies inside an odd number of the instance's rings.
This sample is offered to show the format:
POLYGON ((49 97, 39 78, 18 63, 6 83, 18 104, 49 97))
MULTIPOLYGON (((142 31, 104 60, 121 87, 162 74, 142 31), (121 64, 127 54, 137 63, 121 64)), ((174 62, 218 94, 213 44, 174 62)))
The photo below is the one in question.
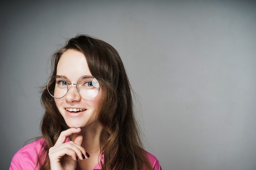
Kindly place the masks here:
MULTIPOLYGON (((103 88, 103 100, 98 120, 103 130, 100 134, 103 170, 141 170, 153 169, 143 149, 139 127, 135 120, 132 103, 132 90, 123 62, 115 48, 110 44, 88 35, 77 35, 67 41, 52 55, 52 75, 61 55, 68 49, 82 52, 92 76, 96 77, 103 88)), ((41 102, 45 114, 41 121, 41 132, 45 139, 38 159, 41 170, 50 169, 48 150, 54 146, 61 131, 68 128, 65 120, 56 108, 54 98, 43 88, 41 102)))

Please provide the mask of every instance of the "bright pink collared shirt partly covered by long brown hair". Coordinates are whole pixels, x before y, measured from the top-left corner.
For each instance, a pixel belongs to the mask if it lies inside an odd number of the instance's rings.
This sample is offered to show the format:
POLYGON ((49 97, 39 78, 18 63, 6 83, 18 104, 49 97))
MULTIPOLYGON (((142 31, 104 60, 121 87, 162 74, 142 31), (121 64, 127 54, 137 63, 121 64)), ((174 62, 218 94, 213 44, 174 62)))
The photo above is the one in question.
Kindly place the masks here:
MULTIPOLYGON (((43 142, 44 139, 41 138, 20 148, 20 150, 13 156, 9 170, 38 170, 38 168, 36 168, 36 161, 43 142)), ((147 155, 152 163, 153 169, 162 170, 157 158, 150 153, 147 153, 147 155)), ((101 161, 104 162, 103 154, 101 154, 101 161)), ((78 166, 76 170, 79 170, 78 166)), ((101 170, 101 163, 98 163, 93 170, 101 170)))

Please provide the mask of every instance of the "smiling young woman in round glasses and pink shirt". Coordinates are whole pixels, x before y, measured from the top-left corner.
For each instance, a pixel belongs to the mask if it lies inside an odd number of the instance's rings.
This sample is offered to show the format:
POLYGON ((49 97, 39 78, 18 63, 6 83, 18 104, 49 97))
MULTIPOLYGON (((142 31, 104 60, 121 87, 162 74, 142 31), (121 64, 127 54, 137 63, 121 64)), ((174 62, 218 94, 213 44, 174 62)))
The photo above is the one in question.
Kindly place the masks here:
POLYGON ((13 156, 10 170, 161 170, 143 149, 118 52, 77 35, 52 55, 42 89, 43 137, 13 156))

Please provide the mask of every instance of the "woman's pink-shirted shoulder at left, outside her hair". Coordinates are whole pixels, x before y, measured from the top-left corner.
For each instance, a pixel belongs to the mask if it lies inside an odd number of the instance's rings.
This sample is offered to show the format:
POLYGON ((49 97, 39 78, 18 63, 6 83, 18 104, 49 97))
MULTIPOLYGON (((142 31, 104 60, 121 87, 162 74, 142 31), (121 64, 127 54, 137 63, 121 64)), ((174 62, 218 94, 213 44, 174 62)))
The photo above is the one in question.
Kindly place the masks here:
POLYGON ((10 170, 34 170, 44 142, 40 138, 20 148, 11 159, 10 170))

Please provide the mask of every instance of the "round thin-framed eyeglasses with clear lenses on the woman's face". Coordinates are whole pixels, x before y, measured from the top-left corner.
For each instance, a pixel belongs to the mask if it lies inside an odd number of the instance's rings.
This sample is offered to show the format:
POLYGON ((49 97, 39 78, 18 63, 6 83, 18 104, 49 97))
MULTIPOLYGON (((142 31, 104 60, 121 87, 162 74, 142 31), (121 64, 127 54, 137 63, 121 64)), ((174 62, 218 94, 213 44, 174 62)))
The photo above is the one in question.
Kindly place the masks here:
POLYGON ((81 97, 92 99, 99 94, 99 82, 93 76, 81 76, 76 84, 68 83, 63 76, 52 76, 47 82, 47 90, 54 98, 63 98, 68 90, 69 85, 76 85, 76 90, 81 97))

